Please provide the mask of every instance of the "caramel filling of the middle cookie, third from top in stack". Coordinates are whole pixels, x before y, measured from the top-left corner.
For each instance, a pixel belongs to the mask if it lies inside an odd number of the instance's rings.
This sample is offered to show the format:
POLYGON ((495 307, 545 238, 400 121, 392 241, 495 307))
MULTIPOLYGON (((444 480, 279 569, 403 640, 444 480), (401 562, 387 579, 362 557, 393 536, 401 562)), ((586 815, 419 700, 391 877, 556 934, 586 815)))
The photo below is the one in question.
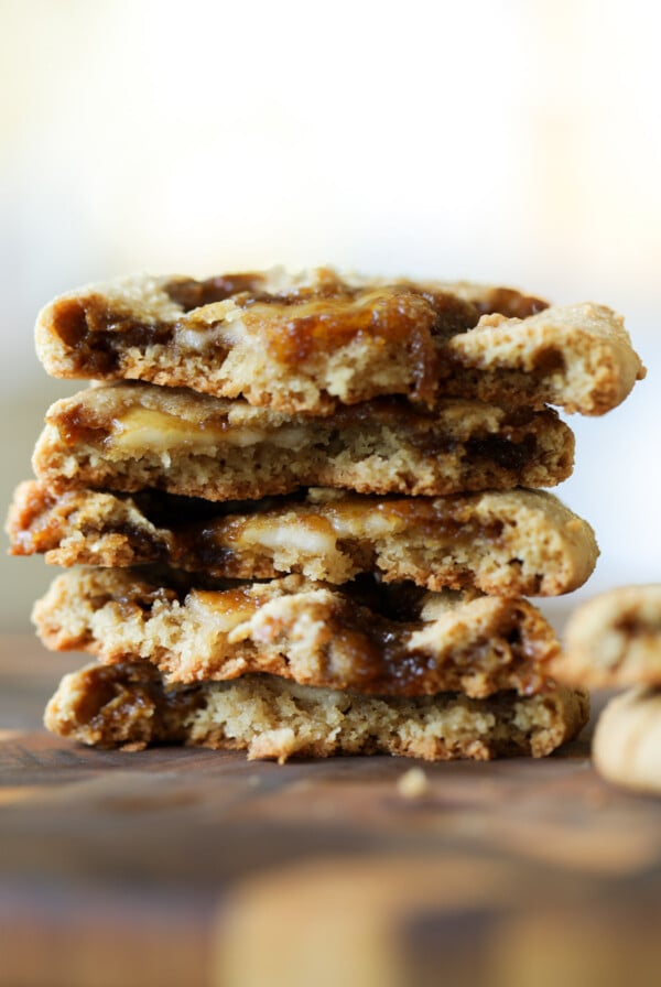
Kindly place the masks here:
POLYGON ((380 543, 398 539, 414 552, 424 546, 432 552, 465 547, 475 554, 485 543, 494 549, 503 544, 503 521, 477 520, 462 498, 346 496, 316 507, 286 498, 281 508, 264 499, 251 502, 248 514, 245 505, 228 503, 219 510, 218 505, 158 491, 137 494, 132 500, 137 514, 118 499, 109 514, 89 520, 84 496, 40 490, 13 525, 12 553, 48 552, 72 533, 95 541, 117 534, 130 545, 136 563, 169 562, 223 575, 237 563, 240 568, 243 560, 268 575, 283 551, 295 553, 302 563, 339 554, 362 568, 376 565, 380 543))

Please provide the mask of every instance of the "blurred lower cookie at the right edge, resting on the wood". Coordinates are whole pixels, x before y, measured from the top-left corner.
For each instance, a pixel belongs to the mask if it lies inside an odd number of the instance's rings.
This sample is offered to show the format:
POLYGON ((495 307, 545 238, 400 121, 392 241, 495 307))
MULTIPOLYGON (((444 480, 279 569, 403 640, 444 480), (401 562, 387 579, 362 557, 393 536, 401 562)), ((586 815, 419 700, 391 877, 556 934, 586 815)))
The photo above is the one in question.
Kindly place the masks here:
POLYGON ((632 688, 611 699, 593 739, 597 771, 614 784, 661 793, 661 691, 632 688))

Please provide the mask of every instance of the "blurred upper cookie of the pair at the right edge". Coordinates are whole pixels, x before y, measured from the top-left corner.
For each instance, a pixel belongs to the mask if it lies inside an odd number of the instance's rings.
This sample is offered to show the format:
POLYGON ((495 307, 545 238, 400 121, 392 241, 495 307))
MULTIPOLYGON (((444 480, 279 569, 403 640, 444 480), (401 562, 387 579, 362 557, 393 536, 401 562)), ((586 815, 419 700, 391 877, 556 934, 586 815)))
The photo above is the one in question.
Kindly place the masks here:
POLYGON ((555 674, 578 685, 661 685, 661 583, 619 586, 576 608, 555 674))

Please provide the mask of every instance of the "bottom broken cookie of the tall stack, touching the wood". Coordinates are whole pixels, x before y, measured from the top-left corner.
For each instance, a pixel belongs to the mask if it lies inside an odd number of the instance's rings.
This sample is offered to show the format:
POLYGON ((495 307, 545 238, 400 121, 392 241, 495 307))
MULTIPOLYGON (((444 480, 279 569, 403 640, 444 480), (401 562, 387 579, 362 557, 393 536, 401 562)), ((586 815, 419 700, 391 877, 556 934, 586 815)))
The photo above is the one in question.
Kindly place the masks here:
POLYGON ((283 763, 370 753, 430 761, 544 757, 573 739, 587 716, 587 696, 561 687, 529 698, 441 693, 411 699, 311 688, 272 675, 166 686, 144 662, 123 662, 66 675, 45 724, 99 747, 187 744, 283 763))

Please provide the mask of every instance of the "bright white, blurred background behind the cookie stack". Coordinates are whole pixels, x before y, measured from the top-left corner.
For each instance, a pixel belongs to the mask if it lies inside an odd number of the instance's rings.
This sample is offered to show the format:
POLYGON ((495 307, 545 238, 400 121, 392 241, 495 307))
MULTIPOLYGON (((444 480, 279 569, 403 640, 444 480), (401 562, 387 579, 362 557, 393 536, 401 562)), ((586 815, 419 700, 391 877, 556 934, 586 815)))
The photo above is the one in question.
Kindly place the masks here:
MULTIPOLYGON (((626 315, 649 369, 571 420, 581 594, 659 579, 661 68, 647 0, 0 0, 0 495, 30 475, 53 295, 283 263, 469 279, 626 315)), ((4 510, 4 508, 3 508, 4 510)), ((53 572, 0 560, 0 627, 53 572)), ((581 595, 579 594, 579 595, 581 595)))

